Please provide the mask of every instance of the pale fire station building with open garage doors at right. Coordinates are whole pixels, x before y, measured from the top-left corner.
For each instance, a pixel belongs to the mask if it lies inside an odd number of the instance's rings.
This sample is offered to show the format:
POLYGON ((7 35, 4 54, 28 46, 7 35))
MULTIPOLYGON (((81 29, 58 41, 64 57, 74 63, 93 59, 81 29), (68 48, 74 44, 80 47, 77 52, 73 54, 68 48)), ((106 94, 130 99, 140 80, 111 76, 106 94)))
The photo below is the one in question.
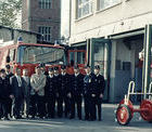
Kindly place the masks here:
POLYGON ((100 65, 106 80, 105 100, 119 102, 130 80, 142 87, 144 27, 152 24, 151 0, 73 0, 71 39, 86 49, 88 64, 100 65))

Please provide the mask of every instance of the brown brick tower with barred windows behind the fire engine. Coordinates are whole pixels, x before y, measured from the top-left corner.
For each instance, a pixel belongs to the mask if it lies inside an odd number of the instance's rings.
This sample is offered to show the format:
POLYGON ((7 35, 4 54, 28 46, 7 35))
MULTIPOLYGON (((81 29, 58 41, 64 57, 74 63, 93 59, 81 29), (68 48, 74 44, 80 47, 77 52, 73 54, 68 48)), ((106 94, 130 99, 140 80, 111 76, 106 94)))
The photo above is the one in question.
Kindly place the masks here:
POLYGON ((41 34, 41 41, 60 38, 61 0, 23 0, 22 29, 41 34))

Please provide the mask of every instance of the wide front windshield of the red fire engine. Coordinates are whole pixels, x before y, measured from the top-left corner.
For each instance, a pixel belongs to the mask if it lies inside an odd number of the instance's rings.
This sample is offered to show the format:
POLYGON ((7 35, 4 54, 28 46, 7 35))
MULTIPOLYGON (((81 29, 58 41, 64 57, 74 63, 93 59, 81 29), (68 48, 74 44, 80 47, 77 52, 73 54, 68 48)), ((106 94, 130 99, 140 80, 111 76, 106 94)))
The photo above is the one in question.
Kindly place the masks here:
POLYGON ((51 47, 22 45, 18 48, 17 62, 23 64, 64 64, 64 49, 51 47))

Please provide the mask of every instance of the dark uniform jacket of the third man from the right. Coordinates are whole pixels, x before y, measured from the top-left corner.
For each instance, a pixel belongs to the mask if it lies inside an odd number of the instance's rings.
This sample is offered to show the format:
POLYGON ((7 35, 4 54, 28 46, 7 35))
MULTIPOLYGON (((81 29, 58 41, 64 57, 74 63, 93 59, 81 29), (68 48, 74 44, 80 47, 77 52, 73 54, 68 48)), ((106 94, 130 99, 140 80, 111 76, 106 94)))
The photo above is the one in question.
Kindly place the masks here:
POLYGON ((79 74, 78 76, 72 75, 72 87, 71 93, 72 95, 81 95, 84 92, 84 75, 79 74))

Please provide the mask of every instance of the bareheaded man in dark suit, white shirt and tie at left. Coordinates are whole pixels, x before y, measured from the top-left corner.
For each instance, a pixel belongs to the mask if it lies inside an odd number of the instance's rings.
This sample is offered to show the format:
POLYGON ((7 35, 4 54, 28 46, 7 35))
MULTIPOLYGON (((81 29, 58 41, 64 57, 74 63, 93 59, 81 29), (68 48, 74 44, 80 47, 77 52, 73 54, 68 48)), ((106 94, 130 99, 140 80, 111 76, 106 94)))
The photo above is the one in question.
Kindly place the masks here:
POLYGON ((21 69, 15 69, 15 76, 10 79, 12 93, 14 95, 14 107, 13 107, 13 116, 16 119, 21 119, 21 108, 24 100, 24 79, 21 77, 21 69))

